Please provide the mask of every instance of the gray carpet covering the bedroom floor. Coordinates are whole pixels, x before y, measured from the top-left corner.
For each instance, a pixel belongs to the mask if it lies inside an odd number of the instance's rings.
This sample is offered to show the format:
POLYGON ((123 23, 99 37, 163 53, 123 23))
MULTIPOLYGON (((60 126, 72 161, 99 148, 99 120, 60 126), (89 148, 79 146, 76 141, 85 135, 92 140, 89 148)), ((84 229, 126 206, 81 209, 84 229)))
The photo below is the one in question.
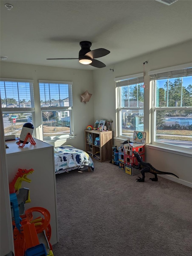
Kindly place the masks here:
POLYGON ((191 256, 192 188, 158 176, 144 183, 109 162, 56 175, 54 256, 191 256))

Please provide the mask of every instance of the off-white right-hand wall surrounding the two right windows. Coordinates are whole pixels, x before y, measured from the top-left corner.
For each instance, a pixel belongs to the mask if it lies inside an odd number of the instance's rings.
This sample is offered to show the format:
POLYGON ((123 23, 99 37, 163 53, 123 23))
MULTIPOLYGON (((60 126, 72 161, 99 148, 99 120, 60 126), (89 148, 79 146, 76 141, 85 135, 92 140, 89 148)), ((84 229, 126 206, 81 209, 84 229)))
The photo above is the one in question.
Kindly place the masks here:
MULTIPOLYGON (((128 48, 128 51, 131 49, 128 48)), ((111 53, 113 54, 113 53, 111 53)), ((149 87, 150 70, 192 62, 192 41, 184 42, 156 52, 151 52, 137 58, 114 64, 102 69, 94 70, 94 117, 98 119, 113 120, 111 123, 114 138, 116 130, 116 98, 114 78, 143 72, 145 64, 145 92, 144 92, 144 131, 147 132, 147 143, 150 143, 151 132, 151 88, 149 87), (113 70, 110 70, 113 69, 113 70)), ((114 139, 114 146, 120 146, 120 141, 114 139)), ((154 150, 146 146, 146 161, 156 169, 175 173, 180 180, 173 176, 166 176, 172 180, 192 187, 192 158, 172 152, 154 150)))

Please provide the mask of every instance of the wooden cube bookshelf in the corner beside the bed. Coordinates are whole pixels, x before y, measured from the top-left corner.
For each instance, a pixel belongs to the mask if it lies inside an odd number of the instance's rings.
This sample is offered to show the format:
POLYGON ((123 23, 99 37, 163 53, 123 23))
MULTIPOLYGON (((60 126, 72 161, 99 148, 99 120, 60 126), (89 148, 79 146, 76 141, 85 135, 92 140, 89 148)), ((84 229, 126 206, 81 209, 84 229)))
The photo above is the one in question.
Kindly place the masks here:
POLYGON ((85 130, 85 151, 91 158, 105 162, 112 159, 112 131, 85 130), (95 145, 95 139, 99 137, 99 145, 95 145))

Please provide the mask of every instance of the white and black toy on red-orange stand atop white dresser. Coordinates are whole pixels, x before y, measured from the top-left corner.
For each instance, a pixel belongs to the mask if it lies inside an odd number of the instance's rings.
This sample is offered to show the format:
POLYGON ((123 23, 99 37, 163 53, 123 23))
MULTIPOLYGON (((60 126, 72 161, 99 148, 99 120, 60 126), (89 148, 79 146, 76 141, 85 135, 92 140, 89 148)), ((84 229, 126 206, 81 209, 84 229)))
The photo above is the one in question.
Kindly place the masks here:
POLYGON ((32 138, 33 130, 34 130, 34 126, 32 125, 32 123, 24 123, 21 130, 20 140, 17 144, 19 145, 19 147, 23 148, 25 144, 28 144, 29 142, 32 145, 36 144, 35 140, 32 138), (22 143, 22 145, 20 145, 20 143, 22 143))

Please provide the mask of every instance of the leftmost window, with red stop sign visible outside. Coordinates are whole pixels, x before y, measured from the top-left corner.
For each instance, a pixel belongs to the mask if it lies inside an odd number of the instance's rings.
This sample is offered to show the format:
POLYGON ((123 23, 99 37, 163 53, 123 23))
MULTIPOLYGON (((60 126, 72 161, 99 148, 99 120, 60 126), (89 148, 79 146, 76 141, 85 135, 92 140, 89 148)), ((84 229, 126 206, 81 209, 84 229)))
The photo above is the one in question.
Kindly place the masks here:
POLYGON ((20 137, 23 124, 33 123, 33 80, 1 78, 0 92, 4 135, 20 137))

